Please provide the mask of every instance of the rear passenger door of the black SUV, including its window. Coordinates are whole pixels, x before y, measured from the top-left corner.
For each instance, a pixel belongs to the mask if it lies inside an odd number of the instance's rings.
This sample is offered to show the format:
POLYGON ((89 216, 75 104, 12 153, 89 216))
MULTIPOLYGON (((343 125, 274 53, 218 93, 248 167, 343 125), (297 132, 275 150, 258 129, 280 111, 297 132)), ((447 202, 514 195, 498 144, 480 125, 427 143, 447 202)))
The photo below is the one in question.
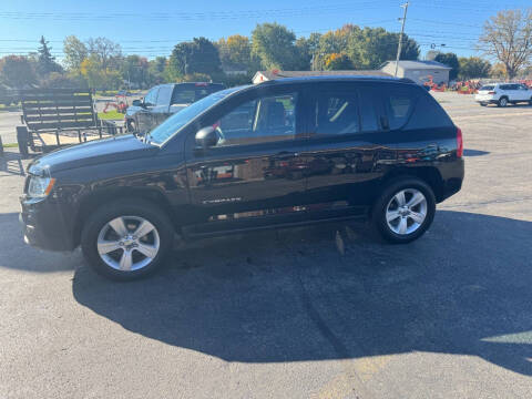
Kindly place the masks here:
POLYGON ((379 145, 382 106, 378 90, 361 83, 314 85, 309 100, 306 198, 316 211, 364 203, 366 188, 379 177, 375 167, 387 150, 379 145))

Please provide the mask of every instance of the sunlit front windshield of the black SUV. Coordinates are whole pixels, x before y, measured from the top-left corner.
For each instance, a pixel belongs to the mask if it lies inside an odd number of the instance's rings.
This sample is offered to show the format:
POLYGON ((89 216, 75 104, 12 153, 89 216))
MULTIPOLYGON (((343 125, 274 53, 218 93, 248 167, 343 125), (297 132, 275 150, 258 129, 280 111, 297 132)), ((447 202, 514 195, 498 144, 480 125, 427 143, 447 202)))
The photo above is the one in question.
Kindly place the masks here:
POLYGON ((149 132, 146 134, 146 139, 150 143, 154 143, 157 145, 163 144, 166 140, 177 133, 185 124, 195 119, 197 115, 208 110, 211 106, 218 103, 219 101, 224 100, 231 93, 234 93, 235 91, 238 91, 243 88, 244 86, 222 90, 211 95, 207 95, 200 101, 196 101, 195 103, 175 113, 166 121, 161 123, 158 126, 156 126, 154 130, 149 132))

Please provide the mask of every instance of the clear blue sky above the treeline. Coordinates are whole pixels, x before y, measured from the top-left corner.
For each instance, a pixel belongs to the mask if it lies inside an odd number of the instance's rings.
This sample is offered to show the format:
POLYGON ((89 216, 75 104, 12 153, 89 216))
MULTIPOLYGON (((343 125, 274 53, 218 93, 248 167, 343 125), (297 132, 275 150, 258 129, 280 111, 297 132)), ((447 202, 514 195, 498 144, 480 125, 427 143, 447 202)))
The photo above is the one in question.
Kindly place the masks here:
MULTIPOLYGON (((257 23, 278 22, 297 37, 326 32, 346 23, 400 31, 400 0, 1 0, 0 57, 35 51, 50 41, 61 60, 69 34, 81 40, 106 37, 125 54, 153 59, 195 37, 218 40, 250 35, 257 23)), ((460 57, 474 50, 483 22, 503 9, 532 7, 531 0, 411 0, 405 32, 420 44, 421 58, 432 45, 460 57), (441 47, 444 44, 444 47, 441 47)))

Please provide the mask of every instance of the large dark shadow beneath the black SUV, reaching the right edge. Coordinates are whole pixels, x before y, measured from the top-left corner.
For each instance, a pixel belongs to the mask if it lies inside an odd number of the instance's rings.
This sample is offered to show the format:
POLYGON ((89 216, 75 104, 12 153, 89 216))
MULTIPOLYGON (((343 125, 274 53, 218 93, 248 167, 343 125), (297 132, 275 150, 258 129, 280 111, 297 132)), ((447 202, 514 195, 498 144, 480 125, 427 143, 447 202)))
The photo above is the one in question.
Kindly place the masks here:
POLYGON ((127 284, 80 267, 73 295, 127 330, 227 361, 432 351, 532 376, 532 223, 441 211, 403 246, 339 228, 198 242, 127 284))

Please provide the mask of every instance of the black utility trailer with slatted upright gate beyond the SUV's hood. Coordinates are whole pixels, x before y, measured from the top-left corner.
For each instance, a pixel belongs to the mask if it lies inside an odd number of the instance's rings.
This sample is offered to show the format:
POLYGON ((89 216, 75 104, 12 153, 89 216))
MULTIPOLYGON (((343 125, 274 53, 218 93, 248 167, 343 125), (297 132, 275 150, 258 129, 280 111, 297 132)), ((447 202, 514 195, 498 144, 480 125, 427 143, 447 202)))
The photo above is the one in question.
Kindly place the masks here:
POLYGON ((38 89, 20 92, 23 126, 17 141, 23 156, 122 133, 122 126, 100 121, 88 89, 38 89))

